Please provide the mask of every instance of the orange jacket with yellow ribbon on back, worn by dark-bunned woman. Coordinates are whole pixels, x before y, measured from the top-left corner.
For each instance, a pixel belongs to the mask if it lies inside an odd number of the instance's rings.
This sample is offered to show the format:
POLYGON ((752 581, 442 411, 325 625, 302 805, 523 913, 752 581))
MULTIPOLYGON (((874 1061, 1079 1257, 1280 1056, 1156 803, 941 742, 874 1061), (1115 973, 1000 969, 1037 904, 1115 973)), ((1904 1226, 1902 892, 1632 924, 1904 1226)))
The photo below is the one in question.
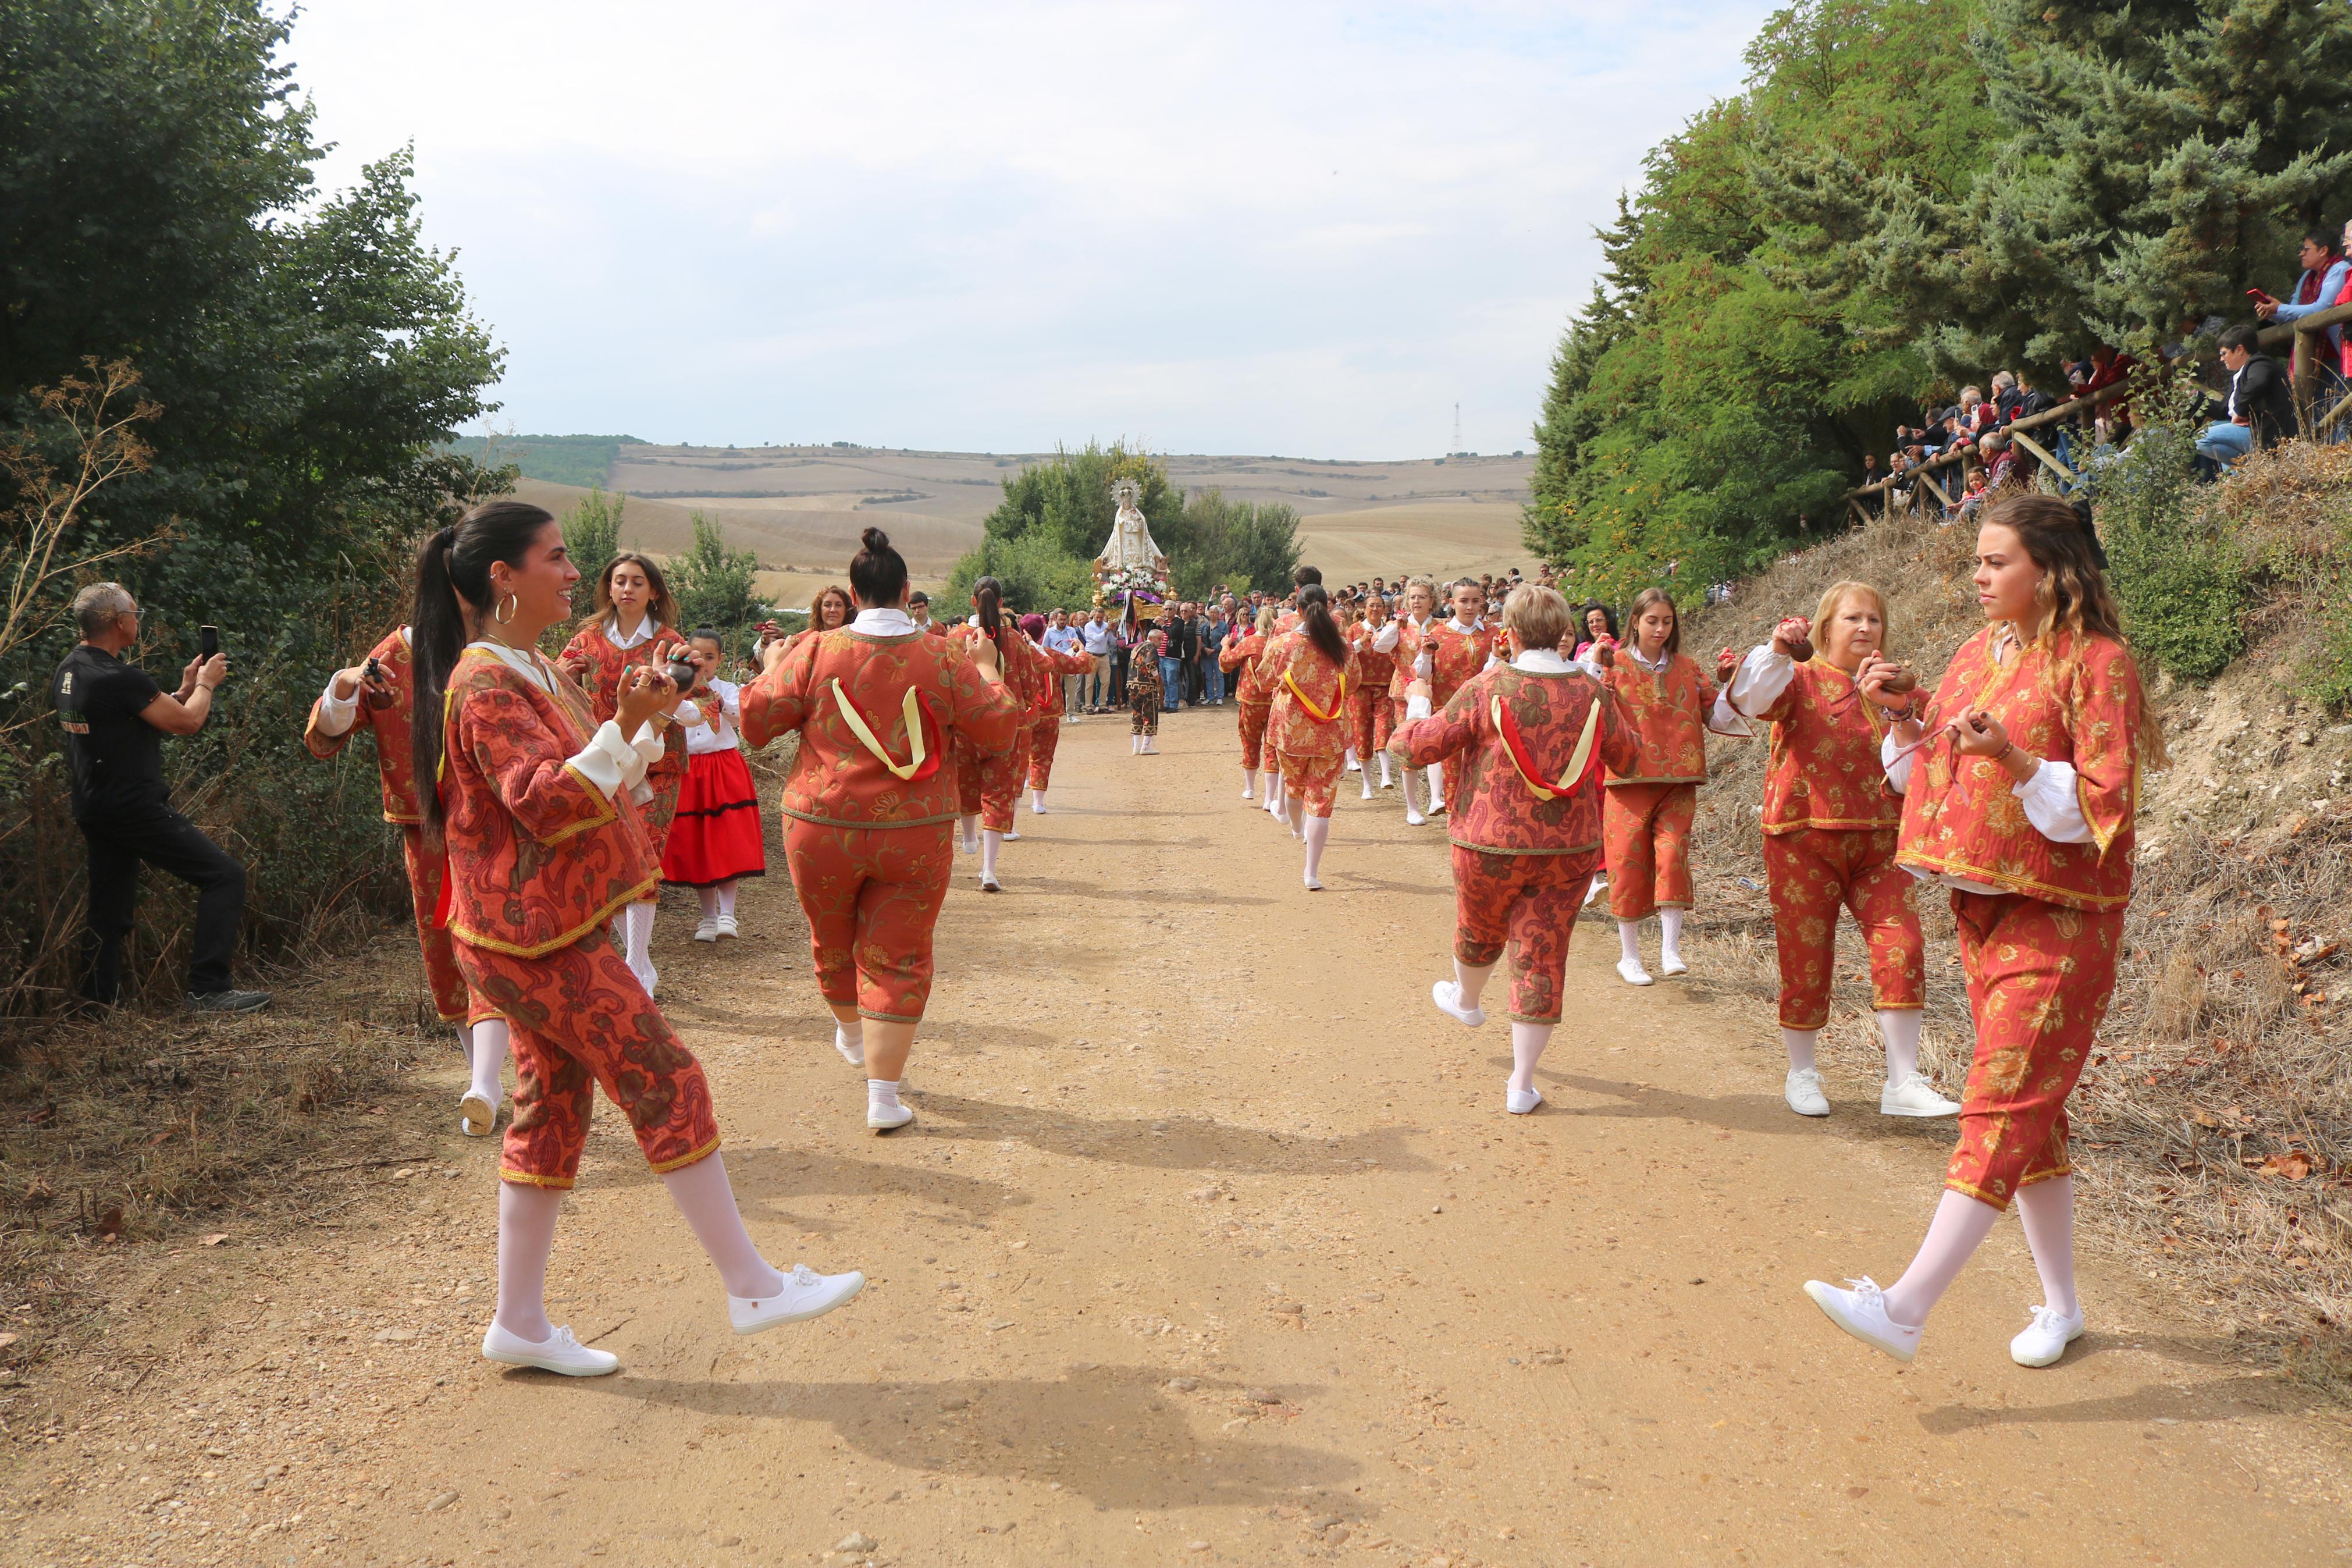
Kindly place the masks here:
POLYGON ((1000 755, 1023 722, 1018 693, 981 675, 960 642, 849 628, 797 642, 743 686, 741 710, 746 745, 800 731, 783 813, 823 827, 955 820, 950 738, 1000 755))

